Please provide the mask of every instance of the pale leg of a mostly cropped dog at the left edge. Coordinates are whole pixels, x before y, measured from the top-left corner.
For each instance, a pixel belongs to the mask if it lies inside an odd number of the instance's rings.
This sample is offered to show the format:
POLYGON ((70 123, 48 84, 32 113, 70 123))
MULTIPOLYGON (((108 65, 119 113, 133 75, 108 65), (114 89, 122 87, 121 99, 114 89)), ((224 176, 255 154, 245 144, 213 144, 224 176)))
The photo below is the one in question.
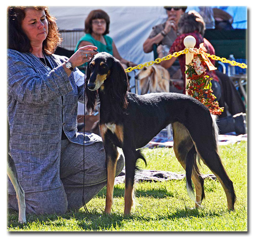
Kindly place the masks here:
POLYGON ((20 182, 17 177, 16 167, 13 161, 12 156, 9 152, 9 124, 8 124, 8 156, 7 156, 7 175, 10 178, 13 187, 16 192, 16 198, 18 200, 19 207, 19 217, 18 220, 20 223, 26 223, 26 202, 25 202, 25 192, 22 189, 20 182))

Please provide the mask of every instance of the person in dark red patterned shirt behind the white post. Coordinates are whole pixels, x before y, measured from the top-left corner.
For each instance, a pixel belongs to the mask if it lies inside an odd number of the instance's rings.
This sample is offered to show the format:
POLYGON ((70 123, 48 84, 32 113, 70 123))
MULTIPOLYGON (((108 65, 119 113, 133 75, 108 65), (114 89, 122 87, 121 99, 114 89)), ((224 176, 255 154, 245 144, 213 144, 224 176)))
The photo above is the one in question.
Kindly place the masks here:
MULTIPOLYGON (((213 46, 208 42, 205 38, 203 38, 205 33, 205 22, 202 18, 202 16, 195 12, 195 11, 189 11, 188 13, 184 13, 178 23, 178 29, 179 29, 179 37, 175 39, 174 43, 172 44, 169 54, 173 54, 176 51, 181 51, 185 49, 183 40, 185 37, 191 35, 196 39, 195 48, 199 49, 200 43, 204 42, 204 46, 208 53, 215 54, 215 50, 213 46)), ((157 52, 159 58, 164 57, 163 54, 163 46, 159 45, 157 47, 157 52)), ((184 82, 184 88, 183 93, 185 93, 185 82, 186 82, 186 76, 185 76, 185 54, 180 55, 179 57, 179 65, 181 69, 182 79, 184 82)), ((165 67, 169 68, 177 58, 172 57, 170 60, 162 61, 160 64, 165 67)), ((214 64, 214 61, 212 61, 214 64)), ((217 99, 220 98, 220 85, 218 83, 218 76, 215 74, 214 71, 207 71, 207 75, 213 78, 212 81, 212 88, 214 90, 214 94, 217 97, 217 99)))

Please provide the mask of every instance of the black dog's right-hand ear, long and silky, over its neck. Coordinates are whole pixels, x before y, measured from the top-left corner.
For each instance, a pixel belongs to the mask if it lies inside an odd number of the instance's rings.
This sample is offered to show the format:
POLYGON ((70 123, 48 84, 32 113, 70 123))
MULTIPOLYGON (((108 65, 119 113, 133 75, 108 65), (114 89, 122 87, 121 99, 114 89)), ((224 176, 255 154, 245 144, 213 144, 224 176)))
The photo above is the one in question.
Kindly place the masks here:
POLYGON ((107 81, 109 86, 108 90, 111 92, 111 96, 113 97, 115 103, 119 104, 119 110, 126 108, 126 95, 129 87, 128 77, 124 67, 116 59, 113 59, 113 65, 107 81))

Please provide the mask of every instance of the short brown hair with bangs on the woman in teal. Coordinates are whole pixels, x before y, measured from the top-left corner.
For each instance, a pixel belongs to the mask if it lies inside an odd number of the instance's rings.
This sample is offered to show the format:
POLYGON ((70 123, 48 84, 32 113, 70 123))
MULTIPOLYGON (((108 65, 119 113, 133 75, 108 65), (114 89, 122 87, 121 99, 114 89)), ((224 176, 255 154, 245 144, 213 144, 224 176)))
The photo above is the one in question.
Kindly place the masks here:
POLYGON ((93 19, 105 19, 106 21, 106 30, 103 33, 103 35, 106 35, 109 33, 109 25, 110 25, 110 18, 109 15, 104 12, 101 9, 97 9, 97 10, 92 10, 89 15, 87 16, 87 18, 85 19, 85 29, 84 32, 85 33, 92 33, 92 20, 93 19))

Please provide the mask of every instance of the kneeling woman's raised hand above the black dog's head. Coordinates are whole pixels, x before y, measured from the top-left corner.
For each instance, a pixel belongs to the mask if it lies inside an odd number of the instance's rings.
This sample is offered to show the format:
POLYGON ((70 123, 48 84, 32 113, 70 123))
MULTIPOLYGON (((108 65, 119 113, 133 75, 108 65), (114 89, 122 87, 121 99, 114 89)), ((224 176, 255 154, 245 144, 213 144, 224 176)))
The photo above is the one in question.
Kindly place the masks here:
POLYGON ((68 62, 72 64, 73 68, 87 63, 95 54, 97 54, 97 52, 94 51, 96 49, 98 48, 92 45, 81 47, 69 58, 68 62))

